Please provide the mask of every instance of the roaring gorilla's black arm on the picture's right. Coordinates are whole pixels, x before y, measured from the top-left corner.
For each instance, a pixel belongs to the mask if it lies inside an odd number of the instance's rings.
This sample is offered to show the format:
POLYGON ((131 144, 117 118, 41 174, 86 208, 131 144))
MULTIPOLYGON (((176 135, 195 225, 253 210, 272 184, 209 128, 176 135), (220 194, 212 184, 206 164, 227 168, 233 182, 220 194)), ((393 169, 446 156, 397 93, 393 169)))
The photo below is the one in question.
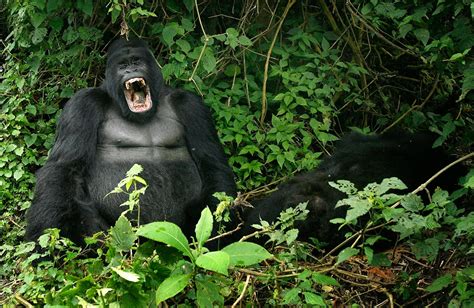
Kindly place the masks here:
POLYGON ((209 109, 189 92, 176 90, 172 95, 179 120, 185 126, 186 143, 196 162, 204 185, 204 203, 215 205, 215 192, 236 195, 234 175, 217 137, 209 109))

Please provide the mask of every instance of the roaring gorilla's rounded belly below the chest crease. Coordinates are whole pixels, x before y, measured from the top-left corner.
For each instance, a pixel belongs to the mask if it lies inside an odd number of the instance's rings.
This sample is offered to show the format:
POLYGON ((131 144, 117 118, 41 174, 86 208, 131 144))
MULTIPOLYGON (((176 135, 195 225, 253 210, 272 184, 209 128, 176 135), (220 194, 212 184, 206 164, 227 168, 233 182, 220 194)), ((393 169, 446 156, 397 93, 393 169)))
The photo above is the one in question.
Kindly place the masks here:
MULTIPOLYGON (((101 215, 111 224, 128 200, 124 193, 110 194, 137 163, 148 188, 140 197, 140 223, 157 220, 186 223, 185 209, 200 202, 202 182, 199 171, 186 147, 115 147, 99 146, 97 162, 88 183, 89 193, 101 215)), ((136 218, 132 214, 130 218, 136 218)))

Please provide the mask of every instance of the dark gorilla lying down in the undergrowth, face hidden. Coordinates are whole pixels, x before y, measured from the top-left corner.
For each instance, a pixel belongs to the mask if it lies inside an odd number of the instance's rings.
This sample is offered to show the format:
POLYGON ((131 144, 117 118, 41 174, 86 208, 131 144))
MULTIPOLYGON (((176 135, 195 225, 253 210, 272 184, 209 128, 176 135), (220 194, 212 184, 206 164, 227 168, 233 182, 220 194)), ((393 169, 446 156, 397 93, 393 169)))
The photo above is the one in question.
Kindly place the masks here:
MULTIPOLYGON (((255 231, 251 225, 259 223, 260 218, 275 221, 283 210, 308 201, 308 217, 297 225, 299 238, 316 237, 333 247, 344 239, 345 232, 330 220, 345 216, 347 209, 335 206, 347 196, 328 183, 349 180, 360 190, 369 183, 397 177, 408 187, 406 192, 413 191, 451 162, 445 152, 432 148, 433 142, 434 136, 425 133, 351 133, 336 144, 334 154, 323 159, 315 170, 295 176, 268 197, 253 202, 255 207, 243 214, 244 227, 234 239, 255 231)), ((448 169, 431 188, 453 187, 463 175, 462 169, 448 169)))

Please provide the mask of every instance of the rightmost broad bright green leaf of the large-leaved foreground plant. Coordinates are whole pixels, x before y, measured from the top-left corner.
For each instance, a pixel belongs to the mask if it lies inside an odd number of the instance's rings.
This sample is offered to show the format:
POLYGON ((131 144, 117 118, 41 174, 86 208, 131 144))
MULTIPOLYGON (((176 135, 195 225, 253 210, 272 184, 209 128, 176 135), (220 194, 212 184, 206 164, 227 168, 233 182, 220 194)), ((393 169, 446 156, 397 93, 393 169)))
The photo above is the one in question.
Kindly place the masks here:
POLYGON ((231 266, 249 266, 272 257, 272 254, 262 246, 248 242, 230 244, 222 251, 229 254, 231 266))

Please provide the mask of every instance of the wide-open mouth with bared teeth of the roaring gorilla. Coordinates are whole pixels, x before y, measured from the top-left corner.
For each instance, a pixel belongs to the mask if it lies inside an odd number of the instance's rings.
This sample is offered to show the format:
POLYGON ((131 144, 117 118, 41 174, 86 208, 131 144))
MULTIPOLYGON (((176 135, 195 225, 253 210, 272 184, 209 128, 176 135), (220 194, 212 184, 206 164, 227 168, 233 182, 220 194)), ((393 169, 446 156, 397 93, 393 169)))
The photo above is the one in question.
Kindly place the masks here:
POLYGON ((145 112, 152 106, 150 88, 145 79, 138 77, 125 81, 125 99, 132 112, 145 112))

